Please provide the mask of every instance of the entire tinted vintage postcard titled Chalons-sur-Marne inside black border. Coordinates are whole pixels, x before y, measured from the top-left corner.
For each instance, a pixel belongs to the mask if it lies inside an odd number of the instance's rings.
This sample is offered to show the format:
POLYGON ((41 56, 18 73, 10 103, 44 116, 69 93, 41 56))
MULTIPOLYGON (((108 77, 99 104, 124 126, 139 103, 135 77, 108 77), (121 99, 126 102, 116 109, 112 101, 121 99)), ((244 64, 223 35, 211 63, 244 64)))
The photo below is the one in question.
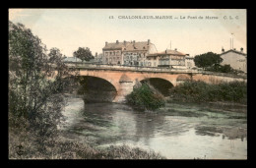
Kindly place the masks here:
POLYGON ((9 159, 247 159, 246 9, 9 9, 9 159))

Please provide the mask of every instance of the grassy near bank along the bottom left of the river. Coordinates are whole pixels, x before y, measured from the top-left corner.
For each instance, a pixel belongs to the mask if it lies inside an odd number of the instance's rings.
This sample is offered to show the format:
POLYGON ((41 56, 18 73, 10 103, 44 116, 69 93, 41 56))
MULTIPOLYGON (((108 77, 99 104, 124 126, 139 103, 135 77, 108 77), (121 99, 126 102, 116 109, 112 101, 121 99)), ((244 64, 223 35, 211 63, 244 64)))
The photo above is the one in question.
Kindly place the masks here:
POLYGON ((164 159, 154 151, 146 151, 128 145, 111 145, 96 148, 86 143, 67 140, 46 140, 43 149, 32 138, 32 134, 9 134, 10 159, 164 159))

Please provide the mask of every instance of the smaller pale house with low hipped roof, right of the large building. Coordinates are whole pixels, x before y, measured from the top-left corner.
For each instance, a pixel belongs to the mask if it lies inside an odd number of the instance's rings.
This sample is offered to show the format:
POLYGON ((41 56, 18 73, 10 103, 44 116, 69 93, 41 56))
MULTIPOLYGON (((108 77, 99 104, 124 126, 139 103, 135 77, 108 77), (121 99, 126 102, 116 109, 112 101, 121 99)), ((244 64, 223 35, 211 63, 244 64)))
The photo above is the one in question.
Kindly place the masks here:
POLYGON ((149 67, 185 67, 186 54, 175 50, 166 49, 163 52, 147 56, 149 67))

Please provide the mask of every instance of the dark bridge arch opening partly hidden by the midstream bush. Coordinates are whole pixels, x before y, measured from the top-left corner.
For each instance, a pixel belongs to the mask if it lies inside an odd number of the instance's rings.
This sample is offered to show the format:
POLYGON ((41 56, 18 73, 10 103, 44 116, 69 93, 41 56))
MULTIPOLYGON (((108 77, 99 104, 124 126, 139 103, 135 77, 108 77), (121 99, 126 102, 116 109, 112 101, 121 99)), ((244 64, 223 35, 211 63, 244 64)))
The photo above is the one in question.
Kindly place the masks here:
POLYGON ((168 90, 174 86, 171 82, 169 82, 165 79, 161 79, 161 78, 146 78, 146 79, 142 80, 141 83, 142 84, 149 83, 149 84, 153 85, 164 96, 168 96, 169 95, 168 90))

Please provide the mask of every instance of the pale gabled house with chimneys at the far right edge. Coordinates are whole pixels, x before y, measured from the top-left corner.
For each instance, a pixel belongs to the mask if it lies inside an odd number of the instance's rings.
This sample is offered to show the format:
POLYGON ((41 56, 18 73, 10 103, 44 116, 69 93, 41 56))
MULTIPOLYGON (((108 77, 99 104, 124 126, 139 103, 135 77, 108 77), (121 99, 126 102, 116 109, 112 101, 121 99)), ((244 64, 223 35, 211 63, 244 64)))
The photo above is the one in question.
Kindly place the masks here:
POLYGON ((240 48, 240 51, 237 51, 235 48, 228 51, 223 49, 222 52, 220 55, 224 61, 221 65, 230 65, 234 70, 247 73, 247 54, 243 52, 243 48, 240 48))

